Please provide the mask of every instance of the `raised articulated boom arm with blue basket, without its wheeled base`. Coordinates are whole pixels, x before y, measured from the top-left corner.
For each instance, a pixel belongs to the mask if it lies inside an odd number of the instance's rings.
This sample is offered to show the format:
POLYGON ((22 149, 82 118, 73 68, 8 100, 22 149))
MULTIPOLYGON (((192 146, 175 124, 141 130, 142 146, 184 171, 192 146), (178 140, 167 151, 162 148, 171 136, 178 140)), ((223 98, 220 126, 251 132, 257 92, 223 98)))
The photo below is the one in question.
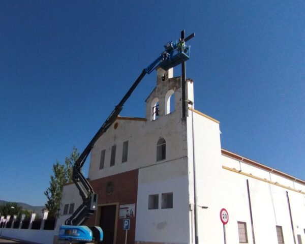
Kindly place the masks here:
POLYGON ((123 105, 146 74, 150 74, 155 68, 157 68, 157 66, 160 66, 164 70, 168 70, 190 58, 190 47, 185 44, 185 41, 191 39, 192 37, 194 37, 194 34, 190 35, 185 40, 180 40, 178 43, 168 42, 164 45, 165 51, 160 53, 159 57, 149 66, 147 66, 147 68, 143 69, 142 73, 128 90, 124 98, 118 103, 118 105, 115 106, 102 127, 79 156, 73 166, 72 179, 79 191, 83 203, 76 209, 73 215, 65 221, 66 225, 82 225, 89 218, 89 216, 94 214, 94 212, 97 210, 98 195, 94 192, 92 186, 90 186, 89 181, 81 173, 81 168, 96 141, 114 123, 118 114, 123 109, 123 105))

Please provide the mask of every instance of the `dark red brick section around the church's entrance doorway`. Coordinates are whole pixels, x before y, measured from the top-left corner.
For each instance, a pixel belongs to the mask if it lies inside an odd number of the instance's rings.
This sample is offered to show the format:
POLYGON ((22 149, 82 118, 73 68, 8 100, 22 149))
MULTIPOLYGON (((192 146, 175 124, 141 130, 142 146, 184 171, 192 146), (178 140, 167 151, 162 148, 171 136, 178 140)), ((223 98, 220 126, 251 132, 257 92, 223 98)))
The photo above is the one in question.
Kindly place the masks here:
MULTIPOLYGON (((137 216, 137 193, 138 193, 138 169, 115 174, 112 176, 91 180, 90 185, 94 191, 99 195, 98 205, 118 203, 135 204, 135 217, 130 218, 130 230, 128 231, 128 244, 135 243, 135 229, 137 216), (111 195, 106 194, 106 186, 108 182, 114 185, 111 195)), ((119 207, 119 206, 118 206, 119 207)), ((97 212, 96 212, 97 214, 97 212)), ((96 224, 96 214, 86 222, 87 226, 94 226, 96 224)), ((118 219, 116 226, 116 243, 125 243, 126 231, 123 230, 123 219, 118 219)))

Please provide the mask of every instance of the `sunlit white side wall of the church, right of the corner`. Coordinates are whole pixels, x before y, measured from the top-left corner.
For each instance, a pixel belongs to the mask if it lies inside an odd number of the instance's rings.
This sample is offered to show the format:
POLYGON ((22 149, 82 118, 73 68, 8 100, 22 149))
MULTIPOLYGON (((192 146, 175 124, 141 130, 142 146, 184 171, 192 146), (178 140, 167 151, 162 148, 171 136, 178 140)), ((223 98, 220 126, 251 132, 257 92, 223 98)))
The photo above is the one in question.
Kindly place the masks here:
MULTIPOLYGON (((194 124, 199 243, 224 242, 223 224, 220 221, 221 208, 226 208, 229 212, 229 222, 226 225, 227 243, 239 243, 237 221, 247 223, 248 243, 253 243, 247 179, 256 243, 278 243, 276 225, 282 226, 285 243, 293 243, 286 192, 289 194, 295 237, 300 234, 305 241, 305 221, 302 218, 305 216, 304 185, 221 155, 218 124, 196 113, 194 113, 194 124), (239 170, 241 173, 238 172, 239 170), (269 184, 268 180, 277 184, 269 184), (201 206, 208 208, 204 209, 201 206)), ((192 168, 191 133, 191 117, 189 117, 190 169, 192 168)), ((191 180, 190 193, 192 193, 191 180)), ((193 196, 190 197, 192 201, 193 196)))

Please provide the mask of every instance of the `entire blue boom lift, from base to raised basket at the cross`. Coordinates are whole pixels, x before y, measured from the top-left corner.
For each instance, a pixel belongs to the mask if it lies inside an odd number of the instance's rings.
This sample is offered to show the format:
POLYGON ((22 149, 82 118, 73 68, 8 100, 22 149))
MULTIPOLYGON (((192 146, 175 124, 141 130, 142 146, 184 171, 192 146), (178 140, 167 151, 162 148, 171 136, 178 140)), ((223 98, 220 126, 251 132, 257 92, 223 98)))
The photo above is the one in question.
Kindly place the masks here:
POLYGON ((194 33, 187 38, 179 39, 179 41, 168 42, 164 45, 165 50, 160 53, 158 58, 143 69, 142 73, 136 79, 134 84, 128 90, 123 99, 115 106, 110 113, 102 127, 92 138, 89 144, 86 146, 82 154, 79 156, 73 166, 73 182, 76 185, 79 194, 82 198, 82 204, 75 210, 70 218, 65 221, 65 225, 59 228, 59 240, 68 240, 70 243, 76 242, 91 242, 103 240, 103 231, 101 227, 87 227, 83 226, 84 222, 94 214, 97 210, 98 195, 94 192, 92 186, 90 186, 88 180, 81 173, 81 168, 84 165, 90 151, 92 150, 96 141, 109 129, 114 123, 118 114, 123 109, 123 105, 127 99, 131 96, 134 89, 144 78, 146 74, 150 74, 158 66, 164 70, 168 70, 174 66, 185 62, 190 58, 190 46, 186 45, 186 41, 193 38, 194 33))

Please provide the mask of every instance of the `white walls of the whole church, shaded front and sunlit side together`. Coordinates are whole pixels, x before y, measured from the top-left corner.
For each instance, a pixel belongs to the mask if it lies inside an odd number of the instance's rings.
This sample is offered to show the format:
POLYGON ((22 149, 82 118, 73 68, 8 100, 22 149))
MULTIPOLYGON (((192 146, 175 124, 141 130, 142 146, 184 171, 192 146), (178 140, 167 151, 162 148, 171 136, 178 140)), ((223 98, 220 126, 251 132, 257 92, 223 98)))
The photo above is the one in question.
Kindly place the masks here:
MULTIPOLYGON (((89 166, 90 180, 138 170, 133 243, 195 243, 194 160, 198 243, 224 243, 222 208, 229 213, 228 244, 254 243, 254 239, 255 243, 281 243, 276 226, 283 231, 283 243, 298 243, 298 238, 305 243, 305 182, 222 149, 219 121, 192 109, 194 104, 188 105, 188 116, 182 119, 180 77, 172 78, 172 70, 157 72, 157 86, 146 100, 146 117, 118 117, 94 145, 89 166), (166 141, 166 155, 158 160, 161 138, 166 141), (126 141, 128 160, 122 163, 126 141), (110 166, 114 145, 115 161, 110 166), (166 206, 166 194, 172 196, 172 202, 167 199, 172 205, 166 206), (158 204, 151 207, 154 196, 158 204), (237 222, 247 228, 247 242, 240 239, 237 222)), ((186 99, 194 101, 192 80, 187 81, 186 99)), ((76 209, 80 198, 72 188, 66 187, 62 204, 75 202, 76 209)), ((106 203, 111 202, 101 205, 106 203)), ((115 228, 121 228, 115 223, 115 228)))

